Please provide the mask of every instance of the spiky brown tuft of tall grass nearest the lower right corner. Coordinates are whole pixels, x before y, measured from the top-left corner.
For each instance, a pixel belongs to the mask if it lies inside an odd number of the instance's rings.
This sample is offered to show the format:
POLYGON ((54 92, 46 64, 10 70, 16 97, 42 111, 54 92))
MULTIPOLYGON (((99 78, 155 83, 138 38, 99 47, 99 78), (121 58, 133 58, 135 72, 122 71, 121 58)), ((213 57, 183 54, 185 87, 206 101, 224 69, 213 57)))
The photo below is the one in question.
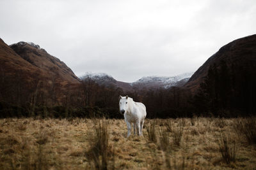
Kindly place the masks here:
POLYGON ((236 141, 231 143, 230 136, 227 136, 225 133, 221 133, 221 138, 219 139, 218 145, 222 159, 225 160, 227 164, 236 161, 236 155, 239 150, 236 141))

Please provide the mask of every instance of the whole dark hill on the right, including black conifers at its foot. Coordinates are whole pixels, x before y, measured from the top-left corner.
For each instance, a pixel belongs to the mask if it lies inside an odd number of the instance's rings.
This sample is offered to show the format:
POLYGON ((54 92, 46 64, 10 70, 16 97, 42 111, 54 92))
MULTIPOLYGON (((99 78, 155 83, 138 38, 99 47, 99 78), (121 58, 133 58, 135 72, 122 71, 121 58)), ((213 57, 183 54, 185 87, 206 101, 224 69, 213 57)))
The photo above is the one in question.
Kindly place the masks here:
POLYGON ((220 48, 185 85, 198 113, 221 116, 256 113, 256 34, 220 48))

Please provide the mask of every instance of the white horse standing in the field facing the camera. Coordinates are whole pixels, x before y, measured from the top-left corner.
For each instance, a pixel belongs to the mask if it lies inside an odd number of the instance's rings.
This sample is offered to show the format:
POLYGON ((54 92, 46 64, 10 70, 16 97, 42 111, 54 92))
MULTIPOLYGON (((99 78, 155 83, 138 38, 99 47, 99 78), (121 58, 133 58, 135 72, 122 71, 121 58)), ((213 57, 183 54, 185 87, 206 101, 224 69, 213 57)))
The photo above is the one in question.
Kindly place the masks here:
POLYGON ((131 123, 133 123, 134 134, 136 134, 136 127, 137 134, 139 136, 143 136, 142 129, 145 117, 147 115, 145 105, 143 103, 134 102, 131 97, 119 96, 119 108, 120 113, 124 114, 124 120, 127 124, 127 137, 131 135, 131 123))

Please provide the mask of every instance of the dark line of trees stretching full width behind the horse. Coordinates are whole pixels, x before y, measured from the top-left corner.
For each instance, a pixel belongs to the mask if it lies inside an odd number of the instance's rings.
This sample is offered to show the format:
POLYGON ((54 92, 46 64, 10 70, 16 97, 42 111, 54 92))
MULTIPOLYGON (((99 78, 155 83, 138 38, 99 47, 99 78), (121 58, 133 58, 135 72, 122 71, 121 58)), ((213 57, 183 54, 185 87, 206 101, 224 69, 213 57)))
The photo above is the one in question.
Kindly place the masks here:
POLYGON ((234 69, 225 61, 209 67, 200 88, 193 94, 182 87, 124 92, 105 87, 88 76, 80 84, 60 85, 58 73, 50 80, 29 79, 20 71, 0 75, 0 117, 107 117, 123 118, 118 96, 144 103, 148 118, 236 117, 255 114, 255 70, 234 69), (50 83, 49 83, 50 82, 50 83))

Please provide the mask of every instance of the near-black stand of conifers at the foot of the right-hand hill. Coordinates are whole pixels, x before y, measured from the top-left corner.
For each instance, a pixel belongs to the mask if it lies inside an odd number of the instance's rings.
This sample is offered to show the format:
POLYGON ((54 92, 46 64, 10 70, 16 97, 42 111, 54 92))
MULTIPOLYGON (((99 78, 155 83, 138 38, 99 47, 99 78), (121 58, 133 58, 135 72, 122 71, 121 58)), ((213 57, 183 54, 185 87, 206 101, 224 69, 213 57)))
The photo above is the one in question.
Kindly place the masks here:
POLYGON ((193 99, 196 112, 214 115, 248 116, 256 113, 256 71, 243 66, 219 65, 209 67, 200 90, 193 99))

